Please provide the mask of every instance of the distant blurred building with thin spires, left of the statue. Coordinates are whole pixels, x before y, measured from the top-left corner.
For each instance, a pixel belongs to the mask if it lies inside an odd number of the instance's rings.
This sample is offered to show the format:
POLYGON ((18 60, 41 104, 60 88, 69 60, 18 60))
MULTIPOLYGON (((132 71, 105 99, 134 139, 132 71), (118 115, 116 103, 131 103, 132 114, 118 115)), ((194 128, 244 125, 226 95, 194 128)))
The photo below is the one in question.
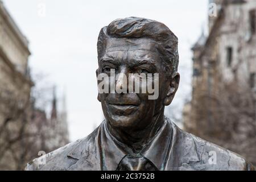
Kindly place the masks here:
MULTIPOLYGON (((55 89, 53 89, 55 90, 55 89)), ((69 143, 67 109, 65 106, 65 96, 60 100, 62 107, 57 109, 57 98, 55 91, 51 101, 50 116, 47 117, 45 110, 35 106, 32 109, 32 125, 30 131, 36 133, 34 144, 34 158, 39 151, 48 153, 69 143)))

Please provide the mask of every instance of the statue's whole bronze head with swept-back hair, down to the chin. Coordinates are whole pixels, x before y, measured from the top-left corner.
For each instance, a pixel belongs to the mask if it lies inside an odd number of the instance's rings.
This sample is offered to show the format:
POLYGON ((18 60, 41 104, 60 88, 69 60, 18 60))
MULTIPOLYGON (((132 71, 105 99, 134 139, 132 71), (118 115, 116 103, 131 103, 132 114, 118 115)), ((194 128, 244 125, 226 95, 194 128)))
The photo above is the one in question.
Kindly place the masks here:
POLYGON ((109 92, 99 93, 98 100, 111 126, 143 129, 163 114, 164 106, 171 104, 180 78, 177 43, 167 26, 150 19, 117 19, 101 29, 96 73, 108 76, 108 83, 115 90, 105 88, 109 92), (138 92, 135 85, 144 75, 147 81, 138 84, 138 92), (154 87, 154 93, 148 89, 142 92, 149 85, 154 87), (155 97, 150 98, 152 95, 155 97))

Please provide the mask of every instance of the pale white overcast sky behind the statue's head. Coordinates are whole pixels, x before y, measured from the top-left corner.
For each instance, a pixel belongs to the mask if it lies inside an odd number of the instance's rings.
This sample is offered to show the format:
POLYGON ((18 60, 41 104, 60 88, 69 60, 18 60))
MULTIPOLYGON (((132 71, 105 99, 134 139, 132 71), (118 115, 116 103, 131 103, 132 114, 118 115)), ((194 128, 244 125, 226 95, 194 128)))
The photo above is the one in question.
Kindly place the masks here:
POLYGON ((30 42, 33 75, 44 73, 67 96, 71 140, 90 134, 103 118, 97 101, 97 37, 112 20, 139 16, 166 24, 179 38, 180 88, 171 107, 180 113, 191 93, 191 46, 207 23, 207 0, 3 0, 30 42), (45 14, 42 11, 46 7, 45 14))

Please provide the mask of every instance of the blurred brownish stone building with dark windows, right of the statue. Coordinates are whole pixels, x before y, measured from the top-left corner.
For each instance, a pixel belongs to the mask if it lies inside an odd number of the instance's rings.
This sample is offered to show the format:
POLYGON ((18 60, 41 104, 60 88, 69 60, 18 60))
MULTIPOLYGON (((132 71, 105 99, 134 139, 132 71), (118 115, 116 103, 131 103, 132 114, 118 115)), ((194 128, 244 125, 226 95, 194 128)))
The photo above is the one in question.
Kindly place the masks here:
POLYGON ((212 0, 208 35, 193 46, 184 128, 256 164, 256 1, 212 0))

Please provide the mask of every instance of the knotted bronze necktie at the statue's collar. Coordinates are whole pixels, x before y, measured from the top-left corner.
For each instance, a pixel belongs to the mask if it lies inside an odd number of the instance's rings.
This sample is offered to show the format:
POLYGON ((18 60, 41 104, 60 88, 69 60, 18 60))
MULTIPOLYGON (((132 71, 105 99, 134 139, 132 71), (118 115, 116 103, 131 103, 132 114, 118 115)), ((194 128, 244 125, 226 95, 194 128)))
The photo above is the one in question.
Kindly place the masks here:
POLYGON ((142 155, 126 155, 119 162, 117 171, 158 171, 158 168, 142 155))

